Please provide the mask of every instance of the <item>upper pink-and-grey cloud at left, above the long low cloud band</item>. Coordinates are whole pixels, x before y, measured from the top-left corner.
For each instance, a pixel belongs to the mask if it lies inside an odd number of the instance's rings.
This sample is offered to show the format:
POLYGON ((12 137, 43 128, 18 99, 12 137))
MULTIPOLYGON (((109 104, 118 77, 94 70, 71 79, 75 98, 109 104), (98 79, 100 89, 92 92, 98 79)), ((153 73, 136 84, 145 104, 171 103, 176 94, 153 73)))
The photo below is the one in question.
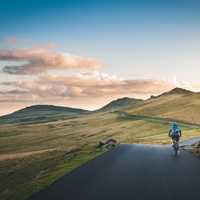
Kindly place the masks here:
POLYGON ((102 63, 96 59, 58 53, 48 48, 0 50, 0 61, 23 62, 3 67, 3 72, 17 75, 40 74, 51 69, 96 69, 102 63))

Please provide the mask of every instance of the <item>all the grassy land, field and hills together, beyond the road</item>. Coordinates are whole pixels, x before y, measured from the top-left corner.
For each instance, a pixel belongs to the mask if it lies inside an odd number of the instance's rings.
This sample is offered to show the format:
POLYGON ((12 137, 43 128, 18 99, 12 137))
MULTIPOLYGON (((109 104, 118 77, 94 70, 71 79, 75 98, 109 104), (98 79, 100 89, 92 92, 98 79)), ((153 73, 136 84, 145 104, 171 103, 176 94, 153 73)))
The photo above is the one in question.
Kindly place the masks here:
POLYGON ((170 143, 174 120, 183 139, 200 136, 199 98, 178 88, 145 101, 119 99, 100 112, 33 106, 1 118, 0 199, 26 199, 103 153, 102 140, 170 143))

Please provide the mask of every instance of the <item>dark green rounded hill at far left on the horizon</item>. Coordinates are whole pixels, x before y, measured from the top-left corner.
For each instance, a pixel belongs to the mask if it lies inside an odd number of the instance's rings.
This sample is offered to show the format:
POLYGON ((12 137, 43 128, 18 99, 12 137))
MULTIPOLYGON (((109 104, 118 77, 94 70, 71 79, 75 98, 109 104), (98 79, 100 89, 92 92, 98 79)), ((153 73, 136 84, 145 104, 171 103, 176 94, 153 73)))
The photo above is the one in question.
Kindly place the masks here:
POLYGON ((39 123, 73 118, 88 114, 89 111, 52 105, 30 106, 12 114, 0 117, 0 124, 9 123, 39 123))

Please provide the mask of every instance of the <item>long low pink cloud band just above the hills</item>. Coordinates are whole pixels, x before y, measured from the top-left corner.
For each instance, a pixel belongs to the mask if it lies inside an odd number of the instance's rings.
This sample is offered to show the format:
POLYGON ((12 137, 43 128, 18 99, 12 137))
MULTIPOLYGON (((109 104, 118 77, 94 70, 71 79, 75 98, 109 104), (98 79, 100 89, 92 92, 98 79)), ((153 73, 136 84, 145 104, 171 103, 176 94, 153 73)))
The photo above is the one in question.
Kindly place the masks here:
MULTIPOLYGON (((9 87, 11 83, 5 82, 9 87)), ((3 85, 2 85, 3 86, 3 85)), ((96 99, 121 96, 148 96, 160 94, 174 87, 161 80, 122 79, 105 73, 91 72, 73 76, 43 75, 34 80, 13 82, 13 90, 3 96, 18 97, 27 101, 96 99), (20 93, 21 92, 21 93, 20 93)), ((0 93, 1 95, 1 93, 0 93)))

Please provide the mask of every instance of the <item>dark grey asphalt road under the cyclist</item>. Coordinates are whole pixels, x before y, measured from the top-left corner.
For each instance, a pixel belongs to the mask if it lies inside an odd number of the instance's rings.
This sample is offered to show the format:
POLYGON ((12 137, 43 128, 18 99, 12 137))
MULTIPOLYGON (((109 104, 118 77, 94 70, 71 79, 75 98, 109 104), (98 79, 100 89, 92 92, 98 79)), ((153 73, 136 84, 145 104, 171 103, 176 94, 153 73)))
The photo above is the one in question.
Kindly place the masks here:
POLYGON ((169 146, 121 145, 31 200, 200 199, 200 159, 169 146))

